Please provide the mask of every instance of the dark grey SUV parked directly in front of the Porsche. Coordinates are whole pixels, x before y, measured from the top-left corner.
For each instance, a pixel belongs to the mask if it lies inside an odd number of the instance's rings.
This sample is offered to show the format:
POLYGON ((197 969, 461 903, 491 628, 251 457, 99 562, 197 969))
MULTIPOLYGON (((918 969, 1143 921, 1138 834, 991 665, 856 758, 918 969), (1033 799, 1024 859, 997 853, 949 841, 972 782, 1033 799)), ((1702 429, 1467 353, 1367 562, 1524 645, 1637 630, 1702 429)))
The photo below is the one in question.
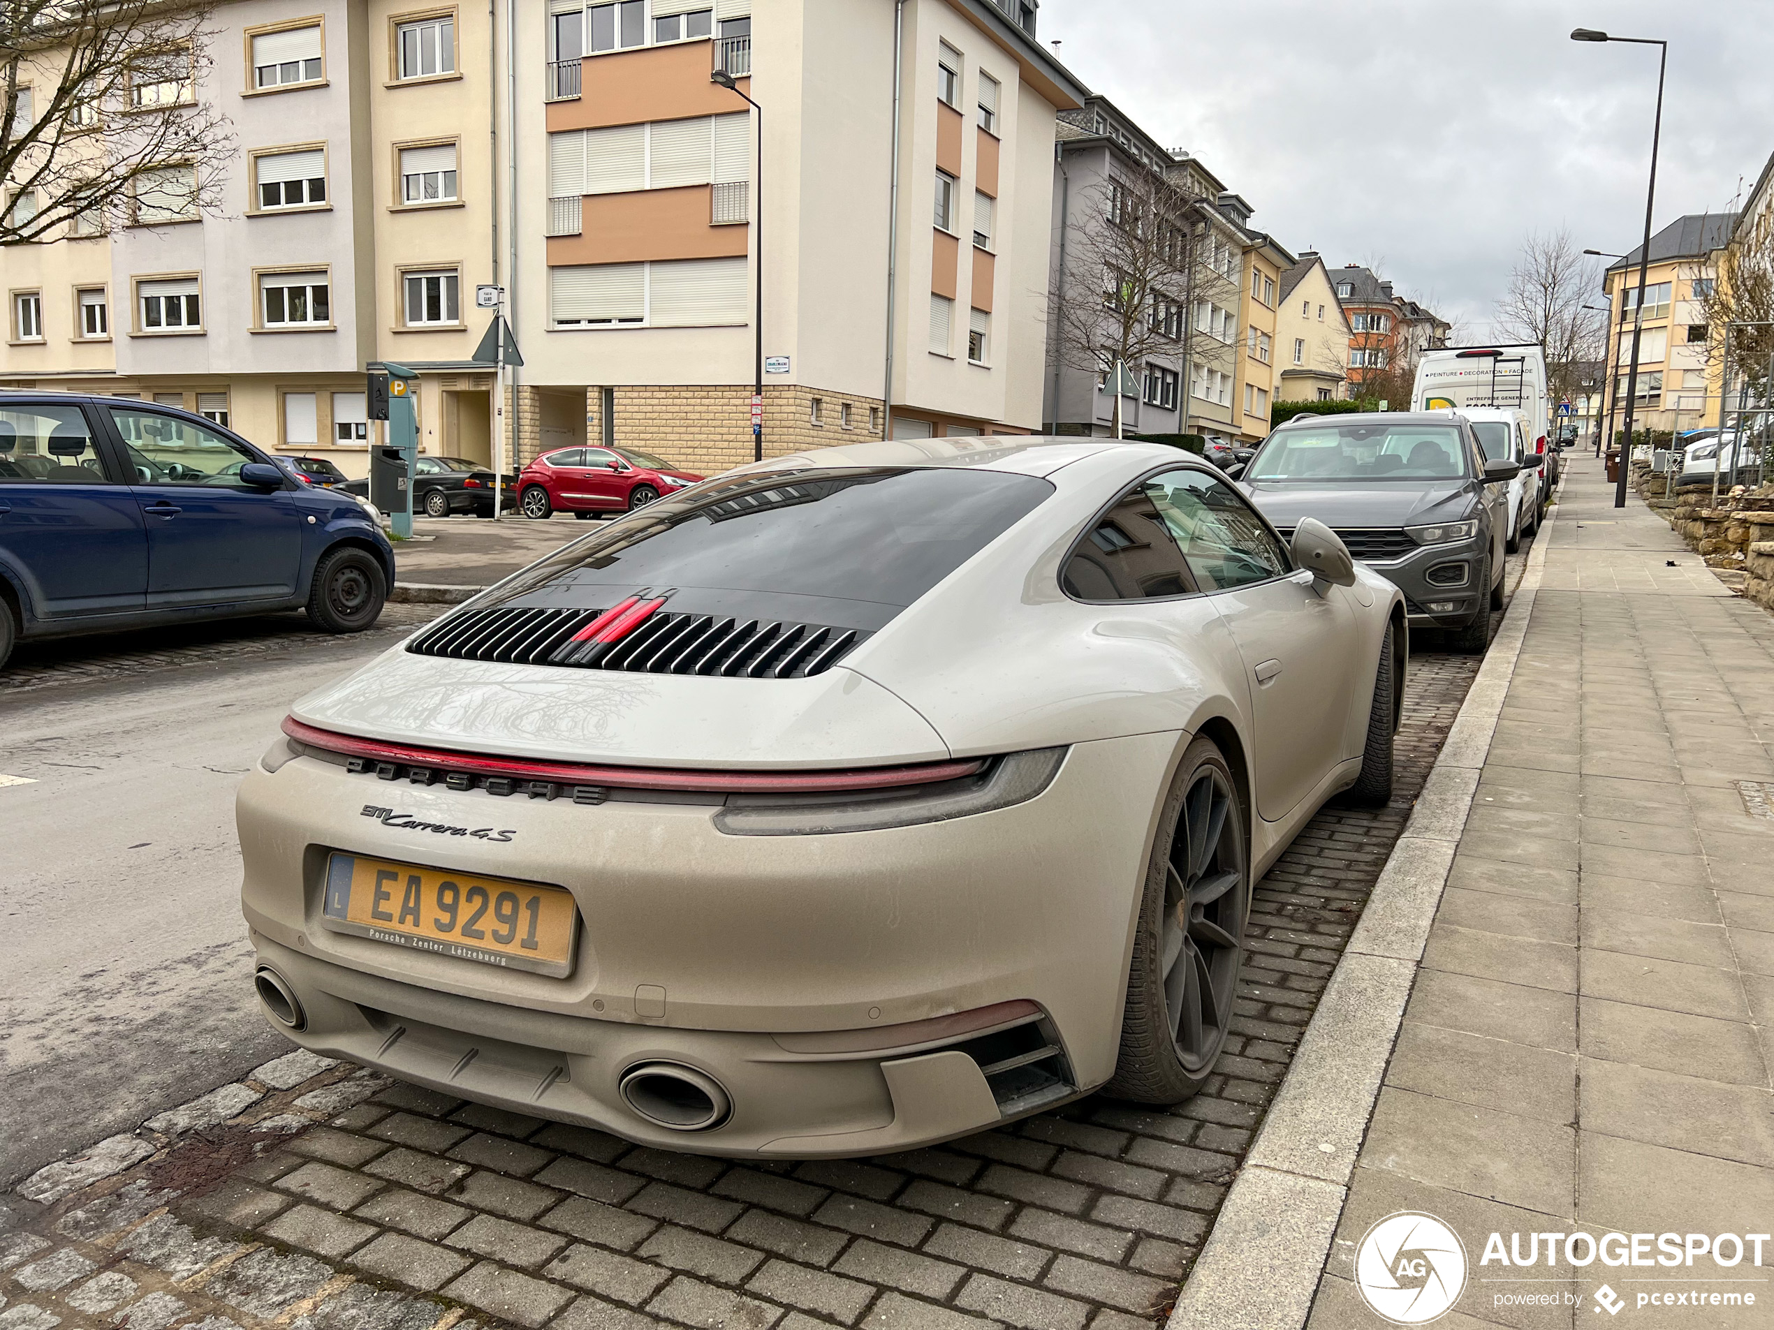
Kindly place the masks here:
POLYGON ((1451 630, 1462 651, 1483 651, 1490 610, 1503 608, 1506 482, 1520 470, 1485 461, 1453 411, 1297 415, 1238 482, 1283 539, 1318 518, 1405 592, 1414 628, 1451 630))

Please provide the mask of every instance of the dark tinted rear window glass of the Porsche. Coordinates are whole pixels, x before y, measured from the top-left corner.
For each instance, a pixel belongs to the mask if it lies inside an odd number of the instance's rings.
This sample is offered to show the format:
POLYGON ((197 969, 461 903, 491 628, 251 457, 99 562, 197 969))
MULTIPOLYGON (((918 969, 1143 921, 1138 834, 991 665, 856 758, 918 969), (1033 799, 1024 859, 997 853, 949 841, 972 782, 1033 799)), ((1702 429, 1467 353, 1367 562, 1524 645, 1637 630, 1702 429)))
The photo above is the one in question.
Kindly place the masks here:
POLYGON ((802 470, 649 504, 518 575, 506 605, 669 610, 876 630, 1054 486, 962 468, 802 470))

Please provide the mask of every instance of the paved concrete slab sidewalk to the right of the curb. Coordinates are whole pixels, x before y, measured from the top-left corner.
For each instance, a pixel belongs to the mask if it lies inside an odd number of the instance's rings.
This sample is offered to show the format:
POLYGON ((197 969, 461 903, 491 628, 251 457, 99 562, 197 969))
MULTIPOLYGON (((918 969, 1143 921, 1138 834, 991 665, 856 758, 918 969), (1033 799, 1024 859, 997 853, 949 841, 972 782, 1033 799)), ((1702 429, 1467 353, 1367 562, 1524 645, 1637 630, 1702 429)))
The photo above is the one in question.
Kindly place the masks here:
MULTIPOLYGON (((1595 1291, 1687 1270, 1481 1264, 1490 1232, 1774 1227, 1774 617, 1577 458, 1309 1325, 1375 1326, 1382 1217, 1467 1247, 1446 1325, 1595 1325, 1595 1291), (1552 1279, 1547 1279, 1547 1277, 1552 1279), (1503 1282, 1504 1279, 1536 1282, 1503 1282), (1563 1307, 1503 1293, 1570 1293, 1563 1307), (1471 1318, 1471 1319, 1467 1319, 1471 1318)), ((1774 1325, 1756 1307, 1634 1325, 1774 1325)), ((1662 1280, 1650 1284, 1646 1280, 1662 1280)), ((1611 1319, 1611 1318, 1604 1318, 1611 1319)))

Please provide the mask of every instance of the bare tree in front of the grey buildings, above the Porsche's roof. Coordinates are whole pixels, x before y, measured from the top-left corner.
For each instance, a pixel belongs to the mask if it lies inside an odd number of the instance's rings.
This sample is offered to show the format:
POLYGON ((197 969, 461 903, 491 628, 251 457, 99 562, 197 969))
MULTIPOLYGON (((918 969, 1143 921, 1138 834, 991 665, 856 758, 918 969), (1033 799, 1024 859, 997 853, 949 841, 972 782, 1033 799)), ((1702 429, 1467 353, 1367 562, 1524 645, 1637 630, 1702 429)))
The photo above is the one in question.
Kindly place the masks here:
MULTIPOLYGON (((1068 223, 1064 271, 1048 293, 1059 364, 1107 376, 1114 390, 1118 365, 1137 372, 1148 358, 1181 356, 1185 337, 1224 355, 1224 342, 1189 316, 1190 301, 1236 286, 1206 266, 1199 220, 1199 200, 1180 174, 1130 170, 1087 192, 1082 220, 1068 223)), ((1180 383, 1178 394, 1187 403, 1189 385, 1180 383)), ((1114 424, 1119 434, 1119 390, 1114 424)))

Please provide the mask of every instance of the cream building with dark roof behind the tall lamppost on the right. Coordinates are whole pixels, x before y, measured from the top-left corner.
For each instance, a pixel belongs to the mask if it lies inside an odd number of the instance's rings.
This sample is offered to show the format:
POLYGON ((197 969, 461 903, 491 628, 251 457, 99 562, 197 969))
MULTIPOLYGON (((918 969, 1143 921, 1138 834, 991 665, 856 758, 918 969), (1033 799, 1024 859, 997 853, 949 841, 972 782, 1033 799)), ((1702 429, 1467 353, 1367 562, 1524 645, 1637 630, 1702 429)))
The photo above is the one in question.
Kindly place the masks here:
MULTIPOLYGON (((1652 236, 1644 273, 1644 317, 1639 332, 1639 378, 1634 385, 1634 429, 1698 429, 1719 422, 1717 367, 1707 360, 1707 316, 1698 300, 1717 273, 1717 250, 1730 241, 1737 213, 1691 213, 1652 236)), ((1602 275, 1613 310, 1607 321, 1607 364, 1614 427, 1625 427, 1632 369, 1632 328, 1639 323, 1639 246, 1602 275)))

